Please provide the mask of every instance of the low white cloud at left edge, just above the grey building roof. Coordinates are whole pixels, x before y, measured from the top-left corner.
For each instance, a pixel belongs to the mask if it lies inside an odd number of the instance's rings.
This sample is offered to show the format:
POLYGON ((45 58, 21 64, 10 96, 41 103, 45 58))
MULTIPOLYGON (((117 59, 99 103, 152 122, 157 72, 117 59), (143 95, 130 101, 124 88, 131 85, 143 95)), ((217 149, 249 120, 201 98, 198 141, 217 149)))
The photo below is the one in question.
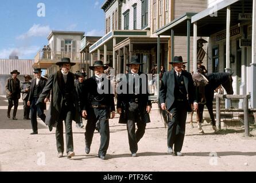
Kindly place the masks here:
POLYGON ((19 58, 33 59, 38 50, 40 50, 39 46, 9 47, 0 50, 0 58, 9 58, 9 55, 15 55, 19 58))

